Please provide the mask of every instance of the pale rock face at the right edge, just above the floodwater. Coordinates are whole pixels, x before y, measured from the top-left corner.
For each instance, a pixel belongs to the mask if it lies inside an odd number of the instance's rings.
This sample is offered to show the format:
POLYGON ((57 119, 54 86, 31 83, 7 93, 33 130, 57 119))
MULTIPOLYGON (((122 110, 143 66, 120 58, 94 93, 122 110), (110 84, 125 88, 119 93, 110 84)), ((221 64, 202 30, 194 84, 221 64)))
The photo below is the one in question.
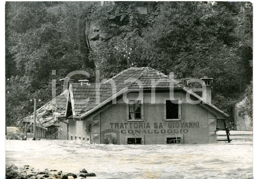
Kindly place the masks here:
POLYGON ((246 116, 245 118, 239 117, 238 116, 238 111, 241 107, 242 104, 245 103, 245 99, 243 101, 240 101, 239 103, 235 104, 234 107, 234 122, 235 122, 235 129, 237 131, 252 131, 251 128, 251 119, 249 116, 246 116))

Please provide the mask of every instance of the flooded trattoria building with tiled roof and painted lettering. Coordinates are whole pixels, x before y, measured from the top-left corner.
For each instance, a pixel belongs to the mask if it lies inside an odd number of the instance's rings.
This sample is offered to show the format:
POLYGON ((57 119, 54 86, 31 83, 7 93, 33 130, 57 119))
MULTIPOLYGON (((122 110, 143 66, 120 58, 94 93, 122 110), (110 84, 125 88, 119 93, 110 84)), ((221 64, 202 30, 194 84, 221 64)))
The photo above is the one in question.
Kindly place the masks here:
POLYGON ((201 81, 198 96, 189 79, 131 67, 101 84, 70 83, 65 111, 69 140, 215 143, 217 120, 225 122, 229 116, 211 104, 212 78, 201 81))

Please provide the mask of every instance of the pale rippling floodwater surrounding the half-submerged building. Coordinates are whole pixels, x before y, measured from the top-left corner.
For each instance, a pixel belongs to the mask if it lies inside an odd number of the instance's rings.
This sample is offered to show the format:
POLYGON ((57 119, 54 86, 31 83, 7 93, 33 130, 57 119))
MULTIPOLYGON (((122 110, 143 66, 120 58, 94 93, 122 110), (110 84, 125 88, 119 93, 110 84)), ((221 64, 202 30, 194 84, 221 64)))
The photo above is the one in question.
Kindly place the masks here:
POLYGON ((253 178, 252 136, 230 138, 231 143, 168 145, 6 140, 6 162, 74 173, 86 168, 95 179, 253 178))

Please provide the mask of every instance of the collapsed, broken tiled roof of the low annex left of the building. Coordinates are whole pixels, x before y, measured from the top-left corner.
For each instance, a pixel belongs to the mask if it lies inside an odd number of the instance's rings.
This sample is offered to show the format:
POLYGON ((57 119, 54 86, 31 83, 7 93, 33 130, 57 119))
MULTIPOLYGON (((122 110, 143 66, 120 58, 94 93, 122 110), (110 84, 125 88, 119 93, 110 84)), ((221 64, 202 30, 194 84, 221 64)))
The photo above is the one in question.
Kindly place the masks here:
MULTIPOLYGON (((47 129, 55 126, 56 117, 65 114, 68 91, 60 94, 42 107, 36 110, 36 126, 47 129)), ((20 120, 21 122, 34 123, 34 115, 30 115, 20 120)))

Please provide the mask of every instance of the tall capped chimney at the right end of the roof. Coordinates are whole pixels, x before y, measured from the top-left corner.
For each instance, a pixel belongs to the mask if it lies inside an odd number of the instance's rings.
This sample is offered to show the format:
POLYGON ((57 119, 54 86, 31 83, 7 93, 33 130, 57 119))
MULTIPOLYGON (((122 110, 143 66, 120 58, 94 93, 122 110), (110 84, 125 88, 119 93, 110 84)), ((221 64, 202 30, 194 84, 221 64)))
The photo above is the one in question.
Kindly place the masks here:
POLYGON ((208 78, 207 76, 200 78, 203 80, 202 85, 202 98, 209 103, 212 103, 212 82, 213 78, 208 78))

